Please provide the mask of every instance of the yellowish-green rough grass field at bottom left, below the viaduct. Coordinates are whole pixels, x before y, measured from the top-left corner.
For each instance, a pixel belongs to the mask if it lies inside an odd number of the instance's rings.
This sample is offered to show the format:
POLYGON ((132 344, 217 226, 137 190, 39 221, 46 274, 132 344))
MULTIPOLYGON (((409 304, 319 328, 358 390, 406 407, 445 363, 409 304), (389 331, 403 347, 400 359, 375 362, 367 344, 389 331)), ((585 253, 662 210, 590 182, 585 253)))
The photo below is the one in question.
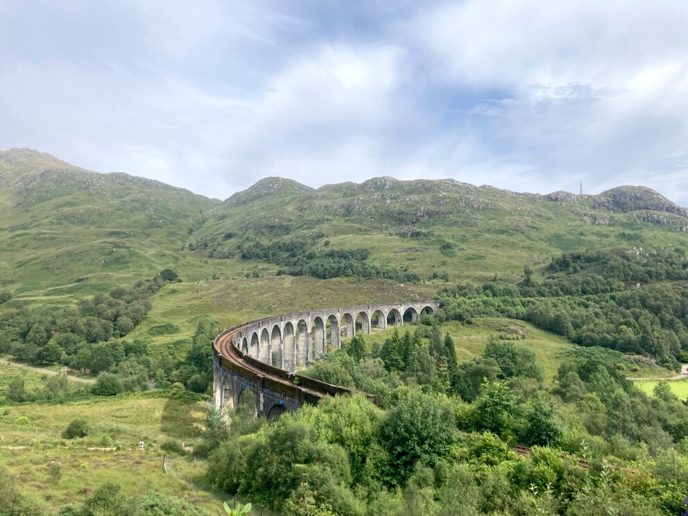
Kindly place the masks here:
POLYGON ((162 470, 167 453, 162 443, 198 442, 205 408, 203 402, 159 393, 0 407, 0 464, 19 485, 40 491, 55 508, 83 499, 105 481, 116 481, 129 494, 153 489, 216 511, 218 501, 203 485, 203 461, 172 454, 169 473, 162 470), (22 416, 28 424, 17 424, 22 416), (89 422, 89 436, 62 439, 60 433, 75 418, 89 422), (144 451, 137 449, 140 440, 144 451), (56 482, 49 475, 53 463, 62 470, 56 482))

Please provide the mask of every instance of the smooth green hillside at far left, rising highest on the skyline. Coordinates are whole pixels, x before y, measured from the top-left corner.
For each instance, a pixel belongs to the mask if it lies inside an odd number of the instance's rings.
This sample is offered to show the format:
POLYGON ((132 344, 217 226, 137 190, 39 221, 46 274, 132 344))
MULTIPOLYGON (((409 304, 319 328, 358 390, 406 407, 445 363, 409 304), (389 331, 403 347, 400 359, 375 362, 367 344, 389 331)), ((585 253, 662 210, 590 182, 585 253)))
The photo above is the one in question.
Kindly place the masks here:
POLYGON ((93 274, 155 274, 182 261, 189 234, 219 203, 28 149, 0 153, 0 184, 0 285, 19 289, 93 274))

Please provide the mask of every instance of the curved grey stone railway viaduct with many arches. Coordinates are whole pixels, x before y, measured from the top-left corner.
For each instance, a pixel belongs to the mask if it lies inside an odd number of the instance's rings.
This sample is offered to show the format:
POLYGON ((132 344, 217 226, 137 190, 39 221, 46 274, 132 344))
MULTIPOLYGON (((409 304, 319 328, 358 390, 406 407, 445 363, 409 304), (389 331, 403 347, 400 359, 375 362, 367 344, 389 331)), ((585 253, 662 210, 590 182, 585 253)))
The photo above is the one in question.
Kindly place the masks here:
POLYGON ((418 322, 433 314, 438 301, 365 304, 358 307, 286 313, 243 322, 225 330, 213 343, 213 388, 217 408, 233 408, 244 390, 255 395, 256 411, 275 418, 322 397, 350 389, 296 373, 317 360, 327 346, 341 347, 341 336, 369 334, 388 325, 418 322))

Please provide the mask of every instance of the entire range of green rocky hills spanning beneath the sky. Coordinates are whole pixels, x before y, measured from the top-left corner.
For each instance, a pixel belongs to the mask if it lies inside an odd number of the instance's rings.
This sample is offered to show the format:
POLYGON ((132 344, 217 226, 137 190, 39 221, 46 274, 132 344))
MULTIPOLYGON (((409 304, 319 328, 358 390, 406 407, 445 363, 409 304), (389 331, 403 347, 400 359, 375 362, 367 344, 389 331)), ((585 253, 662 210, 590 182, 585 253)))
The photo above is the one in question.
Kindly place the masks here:
POLYGON ((0 289, 15 291, 85 277, 118 283, 162 268, 187 281, 258 266, 295 272, 304 260, 325 270, 332 259, 339 266, 323 277, 517 279, 524 265, 571 250, 688 248, 687 210, 644 187, 539 195, 455 180, 312 189, 265 178, 220 202, 29 149, 0 152, 0 209, 0 289))

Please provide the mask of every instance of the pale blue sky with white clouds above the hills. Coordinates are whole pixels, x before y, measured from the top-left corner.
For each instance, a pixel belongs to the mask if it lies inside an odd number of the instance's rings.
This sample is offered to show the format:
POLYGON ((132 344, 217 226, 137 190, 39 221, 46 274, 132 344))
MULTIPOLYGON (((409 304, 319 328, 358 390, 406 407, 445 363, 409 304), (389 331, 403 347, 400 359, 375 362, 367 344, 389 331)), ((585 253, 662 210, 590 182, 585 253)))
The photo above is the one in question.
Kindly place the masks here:
POLYGON ((0 0, 0 149, 227 198, 267 176, 688 206, 686 0, 0 0))

